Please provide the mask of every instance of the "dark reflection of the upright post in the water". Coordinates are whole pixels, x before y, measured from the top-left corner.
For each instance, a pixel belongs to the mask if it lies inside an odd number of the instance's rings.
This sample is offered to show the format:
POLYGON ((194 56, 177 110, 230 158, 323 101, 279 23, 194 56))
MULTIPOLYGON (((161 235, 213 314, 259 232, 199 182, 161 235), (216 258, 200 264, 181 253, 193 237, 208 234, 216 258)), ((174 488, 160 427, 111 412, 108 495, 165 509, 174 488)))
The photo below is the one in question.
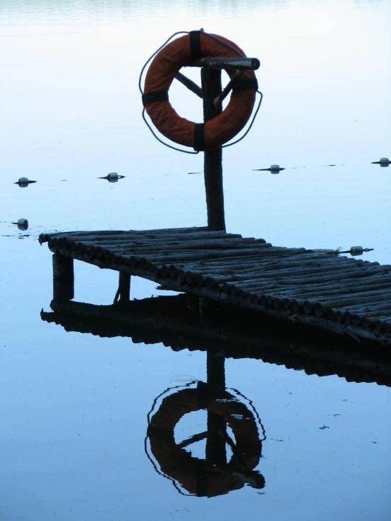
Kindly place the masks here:
MULTIPOLYGON (((218 396, 225 391, 225 358, 219 353, 207 351, 207 392, 209 396, 218 396)), ((207 413, 206 460, 208 465, 227 465, 225 439, 227 429, 224 418, 207 413)))

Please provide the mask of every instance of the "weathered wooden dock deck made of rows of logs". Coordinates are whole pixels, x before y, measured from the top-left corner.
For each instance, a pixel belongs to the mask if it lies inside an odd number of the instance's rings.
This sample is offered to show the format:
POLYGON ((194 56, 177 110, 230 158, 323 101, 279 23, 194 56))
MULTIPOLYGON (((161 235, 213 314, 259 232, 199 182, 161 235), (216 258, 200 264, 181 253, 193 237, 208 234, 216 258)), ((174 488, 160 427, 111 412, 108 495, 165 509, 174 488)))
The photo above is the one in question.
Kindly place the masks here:
MULTIPOLYGON (((39 240, 58 257, 57 269, 63 257, 78 259, 162 289, 391 345, 390 265, 208 228, 45 233, 39 240)), ((69 286, 67 272, 57 278, 69 286)))

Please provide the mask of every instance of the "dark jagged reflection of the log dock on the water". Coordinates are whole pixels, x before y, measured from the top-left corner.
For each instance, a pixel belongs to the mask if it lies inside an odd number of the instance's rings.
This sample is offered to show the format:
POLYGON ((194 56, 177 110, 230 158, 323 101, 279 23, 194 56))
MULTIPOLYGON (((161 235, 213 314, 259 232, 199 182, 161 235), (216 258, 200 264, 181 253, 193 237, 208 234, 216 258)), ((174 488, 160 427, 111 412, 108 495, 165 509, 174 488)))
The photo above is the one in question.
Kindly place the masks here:
POLYGON ((241 314, 238 307, 215 305, 207 319, 188 306, 187 295, 132 300, 98 306, 82 302, 52 302, 54 312, 42 319, 64 326, 66 331, 102 337, 123 336, 134 343, 163 343, 173 350, 221 351, 225 357, 255 358, 307 374, 337 374, 347 381, 377 382, 391 386, 390 350, 380 343, 363 341, 300 324, 241 314), (202 325, 200 324, 202 323, 202 325))

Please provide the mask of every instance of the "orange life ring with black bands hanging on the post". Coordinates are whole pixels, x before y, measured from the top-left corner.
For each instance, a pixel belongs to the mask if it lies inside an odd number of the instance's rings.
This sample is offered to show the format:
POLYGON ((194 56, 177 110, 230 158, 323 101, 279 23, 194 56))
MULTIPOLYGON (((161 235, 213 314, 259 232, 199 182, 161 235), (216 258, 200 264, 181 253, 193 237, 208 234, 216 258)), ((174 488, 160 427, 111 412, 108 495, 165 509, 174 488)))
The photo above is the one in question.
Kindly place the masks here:
MULTIPOLYGON (((202 56, 237 58, 246 56, 229 39, 192 31, 174 39, 155 56, 145 76, 143 104, 157 130, 180 145, 205 150, 220 147, 246 125, 258 90, 253 71, 245 71, 231 92, 221 114, 207 123, 181 118, 169 103, 168 90, 181 67, 202 56)), ((227 71, 230 77, 233 71, 227 71)))

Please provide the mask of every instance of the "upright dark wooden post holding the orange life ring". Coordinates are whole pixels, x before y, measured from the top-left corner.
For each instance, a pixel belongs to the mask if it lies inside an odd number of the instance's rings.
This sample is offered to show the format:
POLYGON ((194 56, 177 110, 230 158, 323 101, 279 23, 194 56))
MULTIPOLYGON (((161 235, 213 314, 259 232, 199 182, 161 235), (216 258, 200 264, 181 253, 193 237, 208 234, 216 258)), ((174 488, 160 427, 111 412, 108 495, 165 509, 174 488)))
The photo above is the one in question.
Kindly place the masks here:
MULTIPOLYGON (((203 87, 204 121, 209 121, 222 112, 222 104, 213 100, 222 92, 221 71, 203 67, 201 69, 203 87)), ((224 192, 222 186, 222 147, 206 150, 204 154, 204 177, 207 206, 207 226, 210 230, 225 231, 224 192)))

